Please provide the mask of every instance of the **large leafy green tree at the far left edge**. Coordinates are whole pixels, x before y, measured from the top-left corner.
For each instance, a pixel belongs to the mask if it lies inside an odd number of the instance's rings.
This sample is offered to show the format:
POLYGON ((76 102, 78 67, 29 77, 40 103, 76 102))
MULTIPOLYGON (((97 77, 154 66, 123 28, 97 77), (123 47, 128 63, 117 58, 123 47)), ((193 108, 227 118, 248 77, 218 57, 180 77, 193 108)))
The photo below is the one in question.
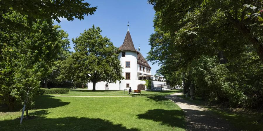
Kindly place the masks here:
MULTIPOLYGON (((16 11, 6 13, 5 19, 27 25, 27 18, 16 11)), ((41 78, 64 45, 59 35, 63 31, 52 20, 37 20, 29 28, 33 32, 0 30, 0 100, 10 111, 25 99, 33 104, 41 78)))

